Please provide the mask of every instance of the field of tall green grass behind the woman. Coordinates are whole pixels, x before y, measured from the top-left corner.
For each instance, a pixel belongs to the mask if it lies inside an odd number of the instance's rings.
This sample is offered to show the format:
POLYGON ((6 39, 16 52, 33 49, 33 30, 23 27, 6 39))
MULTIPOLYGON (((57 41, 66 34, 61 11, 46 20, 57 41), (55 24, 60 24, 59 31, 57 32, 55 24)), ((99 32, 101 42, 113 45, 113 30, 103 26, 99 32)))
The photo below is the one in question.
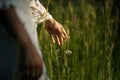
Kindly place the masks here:
POLYGON ((44 24, 39 45, 51 80, 120 80, 120 1, 41 0, 70 35, 53 45, 44 24))

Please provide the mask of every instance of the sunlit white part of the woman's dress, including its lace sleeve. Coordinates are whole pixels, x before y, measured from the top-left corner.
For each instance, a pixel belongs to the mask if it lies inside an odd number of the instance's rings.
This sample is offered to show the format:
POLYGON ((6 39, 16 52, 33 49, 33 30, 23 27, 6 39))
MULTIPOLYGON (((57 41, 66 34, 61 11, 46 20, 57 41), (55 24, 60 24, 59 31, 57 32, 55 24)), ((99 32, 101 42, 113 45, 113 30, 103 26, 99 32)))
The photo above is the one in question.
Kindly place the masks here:
MULTIPOLYGON (((37 51, 39 52, 39 55, 42 57, 41 51, 38 46, 38 40, 37 40, 37 30, 36 30, 36 22, 40 23, 43 22, 46 19, 51 18, 52 16, 47 13, 47 16, 43 17, 42 14, 46 12, 45 8, 38 2, 38 0, 0 0, 0 9, 8 9, 10 6, 13 6, 16 10, 16 13, 18 14, 19 19, 21 22, 24 24, 24 28, 28 32, 28 35, 30 39, 32 40, 34 46, 36 47, 37 51), (29 5, 30 4, 30 5, 29 5), (30 7, 36 8, 36 6, 33 4, 38 4, 40 8, 37 8, 39 11, 33 10, 34 14, 32 15, 33 12, 31 12, 30 7), (38 14, 39 15, 38 18, 38 14), (41 17, 41 18, 40 18, 41 17)), ((39 80, 49 80, 47 74, 46 74, 46 68, 45 65, 43 65, 43 74, 39 80)))

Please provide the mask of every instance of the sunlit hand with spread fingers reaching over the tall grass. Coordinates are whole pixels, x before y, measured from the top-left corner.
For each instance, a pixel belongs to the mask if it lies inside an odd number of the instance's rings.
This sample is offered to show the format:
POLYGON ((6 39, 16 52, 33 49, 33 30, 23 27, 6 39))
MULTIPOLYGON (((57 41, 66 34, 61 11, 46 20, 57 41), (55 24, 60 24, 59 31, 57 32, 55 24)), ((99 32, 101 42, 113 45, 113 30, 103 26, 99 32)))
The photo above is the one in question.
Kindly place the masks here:
POLYGON ((63 45, 64 39, 68 39, 65 29, 54 18, 51 18, 45 22, 45 28, 52 39, 52 43, 63 45))

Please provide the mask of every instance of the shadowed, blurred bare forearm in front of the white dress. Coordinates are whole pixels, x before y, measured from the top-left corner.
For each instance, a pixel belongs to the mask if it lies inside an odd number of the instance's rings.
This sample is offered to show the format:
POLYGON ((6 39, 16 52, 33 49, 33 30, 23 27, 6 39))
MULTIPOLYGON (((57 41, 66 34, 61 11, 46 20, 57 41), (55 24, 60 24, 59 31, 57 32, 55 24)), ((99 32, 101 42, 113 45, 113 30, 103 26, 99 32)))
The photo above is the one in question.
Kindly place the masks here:
POLYGON ((3 23, 10 27, 20 40, 24 47, 33 47, 33 43, 24 28, 24 25, 19 20, 14 8, 9 8, 1 12, 3 23))

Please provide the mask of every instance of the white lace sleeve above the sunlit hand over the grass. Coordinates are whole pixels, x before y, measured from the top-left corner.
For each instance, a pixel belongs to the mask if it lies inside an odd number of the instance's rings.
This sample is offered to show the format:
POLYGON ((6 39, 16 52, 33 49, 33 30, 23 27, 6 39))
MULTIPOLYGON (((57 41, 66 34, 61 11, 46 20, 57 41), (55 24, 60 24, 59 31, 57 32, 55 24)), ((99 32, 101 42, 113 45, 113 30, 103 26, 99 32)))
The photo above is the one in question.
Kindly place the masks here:
POLYGON ((30 7, 34 18, 33 21, 35 23, 41 23, 52 18, 52 16, 47 12, 39 0, 31 0, 30 7))

